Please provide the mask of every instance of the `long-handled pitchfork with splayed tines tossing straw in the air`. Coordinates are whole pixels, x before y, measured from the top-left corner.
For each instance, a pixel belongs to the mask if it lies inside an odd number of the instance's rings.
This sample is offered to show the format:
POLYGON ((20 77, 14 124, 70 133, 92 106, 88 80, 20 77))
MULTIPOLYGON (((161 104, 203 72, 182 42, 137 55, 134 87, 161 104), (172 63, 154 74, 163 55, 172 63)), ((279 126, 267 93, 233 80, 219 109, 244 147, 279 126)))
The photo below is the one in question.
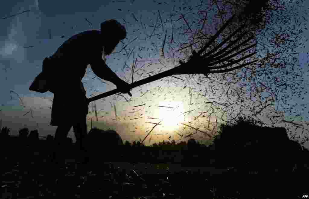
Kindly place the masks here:
MULTIPOLYGON (((198 52, 195 52, 194 50, 192 51, 192 55, 189 57, 189 60, 184 63, 184 62, 180 62, 180 66, 176 66, 170 70, 164 71, 162 73, 159 74, 155 74, 153 76, 150 76, 148 78, 136 81, 134 83, 129 84, 129 89, 132 89, 134 87, 138 87, 141 86, 143 84, 146 83, 150 83, 153 81, 156 81, 158 79, 164 78, 164 77, 168 77, 171 75, 177 75, 177 74, 204 74, 205 76, 207 76, 210 73, 225 73, 225 72, 229 72, 231 70, 235 70, 235 69, 239 69, 242 68, 243 66, 247 66, 249 64, 252 64, 256 61, 252 61, 246 64, 242 64, 236 67, 232 67, 227 69, 228 66, 231 66, 235 63, 238 63, 248 57, 251 57, 252 55, 256 54, 256 52, 248 54, 238 60, 234 60, 232 59, 232 57, 235 57, 237 55, 239 55, 242 52, 245 52, 246 50, 255 47, 256 44, 250 45, 247 48, 244 48, 236 53, 233 53, 234 51, 237 51, 237 49, 239 49, 241 46, 244 46, 248 41, 252 40, 254 37, 251 36, 249 37, 247 40, 243 41, 241 44, 239 44, 238 46, 226 51, 227 49, 231 48, 231 46, 233 44, 235 44, 237 41, 239 41, 241 38, 243 38, 243 36, 245 34, 247 34, 249 31, 245 31, 242 34, 240 34, 238 36, 238 38, 234 41, 231 41, 229 45, 227 45, 224 49, 218 51, 217 53, 215 53, 223 44, 225 44, 228 40, 230 40, 237 32, 240 32, 240 30, 242 30, 245 26, 245 24, 243 24, 241 27, 239 27, 237 30, 235 30, 230 36, 228 36, 224 41, 222 41, 218 46, 214 47, 214 49, 210 50, 207 53, 204 53, 203 55, 201 55, 209 46, 212 42, 214 42, 214 40, 216 38, 218 38, 219 34, 227 27, 227 25, 229 23, 231 23, 231 21, 234 19, 236 15, 233 15, 223 26, 222 28, 220 28, 220 30, 211 37, 211 39, 209 40, 209 42, 207 44, 205 44, 204 47, 201 48, 201 50, 199 50, 198 52), (233 53, 233 54, 231 54, 233 53), (226 57, 227 56, 227 57, 226 57), (233 61, 231 61, 231 59, 233 61), (219 63, 222 63, 223 61, 229 61, 229 64, 222 64, 221 66, 214 66, 217 65, 219 63), (196 65, 195 67, 193 67, 193 65, 196 65), (204 66, 197 66, 197 65, 204 65, 204 66), (224 70, 218 70, 218 69, 223 69, 226 68, 224 70)), ((191 44, 192 45, 192 44, 191 44)), ((185 47, 188 48, 189 46, 185 47)), ((184 49, 184 48, 182 48, 184 49)), ((182 50, 179 49, 179 50, 182 50)), ((178 51, 179 51, 178 50, 178 51)), ((110 95, 114 95, 118 92, 121 92, 120 89, 114 89, 112 91, 108 91, 99 95, 96 95, 94 97, 91 97, 88 99, 88 103, 95 101, 97 99, 101 99, 110 95)))

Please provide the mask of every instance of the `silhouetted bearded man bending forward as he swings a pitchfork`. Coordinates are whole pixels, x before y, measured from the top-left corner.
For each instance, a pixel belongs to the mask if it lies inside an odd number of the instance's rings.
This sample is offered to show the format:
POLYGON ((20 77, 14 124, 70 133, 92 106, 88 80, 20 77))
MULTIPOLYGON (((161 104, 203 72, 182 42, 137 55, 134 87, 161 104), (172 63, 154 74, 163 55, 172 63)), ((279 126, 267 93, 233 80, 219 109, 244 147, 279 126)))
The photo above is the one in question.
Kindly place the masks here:
POLYGON ((81 80, 88 64, 96 76, 114 83, 123 93, 132 96, 129 84, 121 80, 102 59, 103 53, 111 54, 125 37, 125 27, 116 20, 108 20, 101 23, 101 31, 90 30, 72 36, 57 49, 56 53, 47 58, 48 60, 44 60, 48 65, 45 69, 53 77, 50 88, 54 93, 50 125, 58 126, 55 133, 58 160, 64 152, 63 143, 72 126, 82 158, 86 152, 86 116, 89 101, 81 80))

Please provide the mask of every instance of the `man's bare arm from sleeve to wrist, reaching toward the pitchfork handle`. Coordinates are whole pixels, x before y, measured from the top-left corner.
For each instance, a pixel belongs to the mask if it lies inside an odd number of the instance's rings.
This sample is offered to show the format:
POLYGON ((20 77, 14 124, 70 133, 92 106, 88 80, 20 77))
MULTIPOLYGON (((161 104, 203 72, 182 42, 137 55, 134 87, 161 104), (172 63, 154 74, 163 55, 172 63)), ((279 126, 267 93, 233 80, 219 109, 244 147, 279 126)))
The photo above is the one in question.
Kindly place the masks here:
POLYGON ((97 59, 90 64, 92 71, 96 76, 106 81, 112 82, 116 86, 122 80, 106 65, 102 58, 97 59))

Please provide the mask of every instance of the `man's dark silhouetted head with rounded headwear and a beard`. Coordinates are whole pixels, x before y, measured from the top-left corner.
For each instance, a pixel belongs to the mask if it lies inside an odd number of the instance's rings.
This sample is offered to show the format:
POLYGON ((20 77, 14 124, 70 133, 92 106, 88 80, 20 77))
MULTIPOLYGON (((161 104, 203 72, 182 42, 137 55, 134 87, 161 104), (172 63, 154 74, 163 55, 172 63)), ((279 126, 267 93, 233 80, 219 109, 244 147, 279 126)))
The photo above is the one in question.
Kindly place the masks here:
POLYGON ((120 40, 125 39, 127 36, 125 27, 114 19, 102 22, 101 32, 105 40, 104 53, 106 55, 111 54, 120 40))

